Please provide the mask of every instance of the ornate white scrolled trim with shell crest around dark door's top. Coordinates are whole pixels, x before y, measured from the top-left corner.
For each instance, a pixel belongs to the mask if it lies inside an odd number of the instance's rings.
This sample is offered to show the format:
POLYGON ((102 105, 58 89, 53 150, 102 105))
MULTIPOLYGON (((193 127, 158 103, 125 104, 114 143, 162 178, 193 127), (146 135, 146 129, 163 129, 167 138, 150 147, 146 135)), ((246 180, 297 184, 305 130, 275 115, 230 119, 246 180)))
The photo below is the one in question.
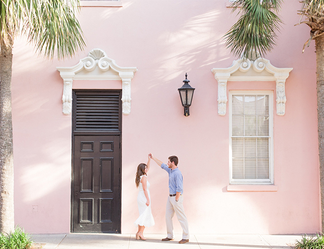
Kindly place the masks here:
POLYGON ((63 114, 72 112, 72 82, 73 80, 121 80, 123 85, 123 114, 131 113, 131 81, 137 72, 136 67, 120 67, 116 61, 107 57, 105 51, 96 48, 88 56, 81 59, 73 67, 57 67, 63 79, 63 114), (91 74, 89 72, 95 71, 91 74), (111 71, 114 74, 108 74, 111 71), (117 74, 116 74, 117 73, 117 74))

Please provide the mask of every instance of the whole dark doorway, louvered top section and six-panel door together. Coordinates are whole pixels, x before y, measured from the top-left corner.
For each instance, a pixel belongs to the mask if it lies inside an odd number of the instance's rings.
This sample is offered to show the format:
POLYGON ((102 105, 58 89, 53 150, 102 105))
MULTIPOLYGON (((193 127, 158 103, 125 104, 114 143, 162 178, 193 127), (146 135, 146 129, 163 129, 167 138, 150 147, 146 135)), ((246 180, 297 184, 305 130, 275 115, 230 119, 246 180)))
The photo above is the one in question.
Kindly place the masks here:
POLYGON ((121 233, 121 92, 73 92, 71 231, 121 233))

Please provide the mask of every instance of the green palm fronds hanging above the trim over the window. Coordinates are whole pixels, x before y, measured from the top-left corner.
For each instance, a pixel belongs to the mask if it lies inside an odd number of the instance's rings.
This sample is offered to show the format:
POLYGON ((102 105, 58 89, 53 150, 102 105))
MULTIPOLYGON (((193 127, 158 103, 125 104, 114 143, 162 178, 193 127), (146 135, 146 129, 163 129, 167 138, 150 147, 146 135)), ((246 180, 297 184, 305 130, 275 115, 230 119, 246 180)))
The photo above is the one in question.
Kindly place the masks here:
POLYGON ((261 55, 271 51, 276 44, 276 32, 282 23, 277 12, 280 0, 237 0, 234 9, 239 6, 238 21, 224 35, 225 46, 231 48, 235 56, 247 58, 255 50, 261 55), (274 10, 274 11, 272 11, 274 10))

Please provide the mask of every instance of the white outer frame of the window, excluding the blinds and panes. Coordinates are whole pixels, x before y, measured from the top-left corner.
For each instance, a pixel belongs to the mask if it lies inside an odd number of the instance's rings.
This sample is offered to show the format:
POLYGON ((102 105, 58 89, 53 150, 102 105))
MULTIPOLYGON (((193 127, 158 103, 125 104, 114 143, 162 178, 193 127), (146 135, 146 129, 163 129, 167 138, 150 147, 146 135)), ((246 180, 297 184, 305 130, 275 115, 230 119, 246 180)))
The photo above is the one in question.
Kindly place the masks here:
POLYGON ((273 184, 274 183, 274 147, 273 147, 273 127, 274 127, 274 106, 273 91, 260 90, 230 90, 229 91, 229 183, 230 184, 273 184), (233 95, 269 95, 269 177, 270 179, 233 179, 232 177, 232 98, 233 95))

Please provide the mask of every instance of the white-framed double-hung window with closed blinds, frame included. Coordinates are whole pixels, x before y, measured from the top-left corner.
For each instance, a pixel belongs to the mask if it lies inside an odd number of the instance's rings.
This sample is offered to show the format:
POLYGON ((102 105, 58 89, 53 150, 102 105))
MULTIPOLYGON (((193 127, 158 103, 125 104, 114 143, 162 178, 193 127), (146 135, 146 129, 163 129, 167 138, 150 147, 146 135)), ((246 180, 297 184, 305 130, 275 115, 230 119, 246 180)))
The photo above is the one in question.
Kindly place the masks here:
POLYGON ((230 91, 230 183, 273 184, 273 92, 230 91))

